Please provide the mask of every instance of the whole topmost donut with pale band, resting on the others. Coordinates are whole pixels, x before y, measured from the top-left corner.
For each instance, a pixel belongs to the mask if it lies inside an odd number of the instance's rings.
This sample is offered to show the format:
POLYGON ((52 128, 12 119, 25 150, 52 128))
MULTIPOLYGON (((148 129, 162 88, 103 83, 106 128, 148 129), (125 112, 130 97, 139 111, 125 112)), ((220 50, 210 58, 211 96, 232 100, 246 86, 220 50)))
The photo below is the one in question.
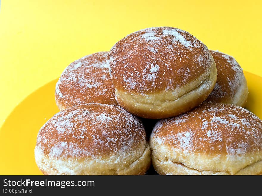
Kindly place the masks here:
POLYGON ((216 83, 208 48, 172 27, 143 29, 118 41, 107 56, 116 101, 143 118, 176 116, 201 104, 216 83))

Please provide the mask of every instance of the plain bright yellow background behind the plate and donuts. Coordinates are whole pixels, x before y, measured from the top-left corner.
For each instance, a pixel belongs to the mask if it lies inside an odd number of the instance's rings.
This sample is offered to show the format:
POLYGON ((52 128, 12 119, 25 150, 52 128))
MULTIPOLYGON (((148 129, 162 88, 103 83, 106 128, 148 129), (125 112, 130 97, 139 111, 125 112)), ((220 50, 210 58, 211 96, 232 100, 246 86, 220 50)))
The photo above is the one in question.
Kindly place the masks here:
POLYGON ((69 63, 108 51, 122 37, 146 27, 184 29, 262 76, 261 5, 229 0, 2 0, 0 126, 16 105, 59 77, 69 63))

